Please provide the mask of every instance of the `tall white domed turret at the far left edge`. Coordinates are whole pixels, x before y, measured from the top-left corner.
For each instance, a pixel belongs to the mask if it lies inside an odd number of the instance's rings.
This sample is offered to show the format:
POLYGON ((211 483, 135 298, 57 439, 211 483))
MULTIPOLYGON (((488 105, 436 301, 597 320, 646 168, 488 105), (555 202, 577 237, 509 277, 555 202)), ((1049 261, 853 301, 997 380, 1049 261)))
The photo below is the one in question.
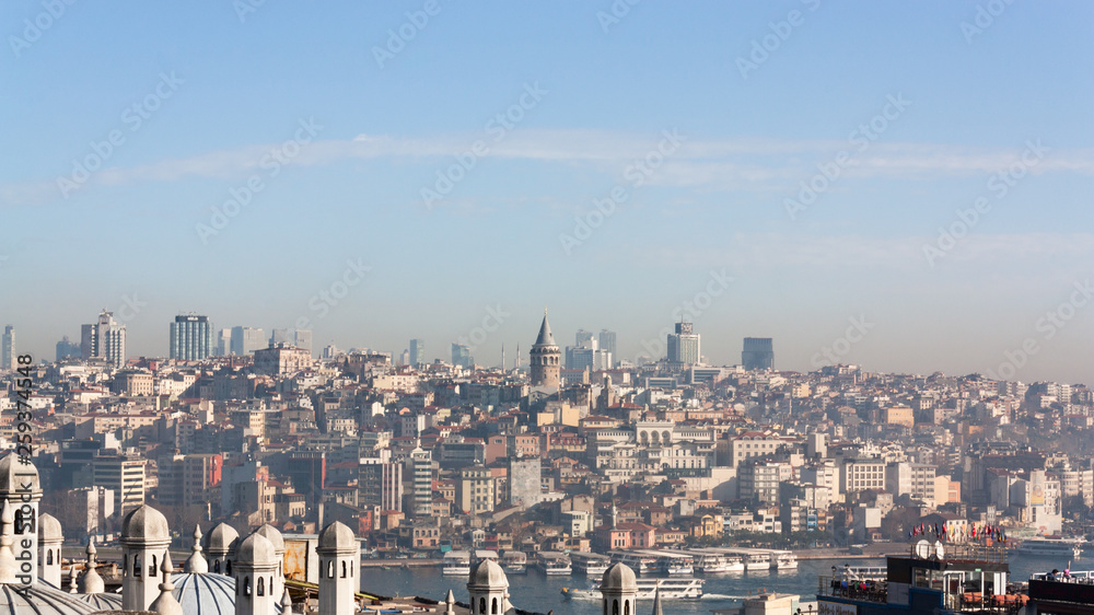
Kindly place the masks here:
MULTIPOLYGON (((30 459, 11 453, 0 459, 0 499, 12 506, 13 549, 20 553, 15 582, 30 585, 38 581, 38 501, 42 483, 30 459), (30 558, 23 558, 28 554, 30 558)), ((14 553, 14 552, 13 552, 14 553)))

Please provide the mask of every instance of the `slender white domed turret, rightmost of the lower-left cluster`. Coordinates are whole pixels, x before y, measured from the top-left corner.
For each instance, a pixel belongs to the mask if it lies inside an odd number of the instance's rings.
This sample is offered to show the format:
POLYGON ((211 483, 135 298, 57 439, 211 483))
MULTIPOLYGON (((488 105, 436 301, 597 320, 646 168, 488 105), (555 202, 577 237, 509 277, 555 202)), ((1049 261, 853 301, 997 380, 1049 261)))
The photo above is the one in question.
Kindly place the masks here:
POLYGON ((354 615, 360 581, 357 568, 361 562, 360 544, 352 530, 335 521, 319 532, 315 547, 319 556, 318 615, 354 615))

